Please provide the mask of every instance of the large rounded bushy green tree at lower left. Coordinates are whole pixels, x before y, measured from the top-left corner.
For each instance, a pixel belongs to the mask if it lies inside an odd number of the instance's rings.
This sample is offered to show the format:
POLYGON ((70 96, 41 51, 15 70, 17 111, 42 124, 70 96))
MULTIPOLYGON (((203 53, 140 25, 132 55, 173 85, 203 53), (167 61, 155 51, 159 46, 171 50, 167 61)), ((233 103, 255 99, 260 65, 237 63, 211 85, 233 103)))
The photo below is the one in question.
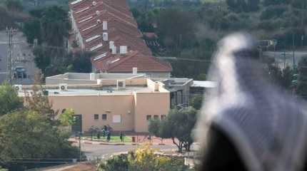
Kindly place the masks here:
POLYGON ((0 160, 9 163, 16 158, 77 158, 78 150, 68 138, 45 115, 16 111, 0 118, 0 160))

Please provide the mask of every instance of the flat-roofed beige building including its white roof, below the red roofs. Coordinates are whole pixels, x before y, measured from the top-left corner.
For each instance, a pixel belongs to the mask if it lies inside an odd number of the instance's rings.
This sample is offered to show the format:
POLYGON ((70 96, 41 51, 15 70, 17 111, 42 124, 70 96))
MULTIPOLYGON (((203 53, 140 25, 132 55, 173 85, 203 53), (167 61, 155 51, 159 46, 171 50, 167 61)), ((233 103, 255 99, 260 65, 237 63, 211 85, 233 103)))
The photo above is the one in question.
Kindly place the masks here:
MULTIPOLYGON (((46 94, 54 110, 75 110, 78 121, 72 127, 73 131, 84 132, 92 126, 101 128, 109 125, 114 131, 147 133, 149 120, 163 119, 170 110, 169 91, 163 83, 142 76, 118 77, 121 79, 97 79, 96 84, 93 80, 84 79, 91 84, 83 85, 69 84, 74 83, 74 79, 65 84, 47 80, 46 94)), ((29 88, 19 87, 19 94, 23 95, 22 92, 29 88)))

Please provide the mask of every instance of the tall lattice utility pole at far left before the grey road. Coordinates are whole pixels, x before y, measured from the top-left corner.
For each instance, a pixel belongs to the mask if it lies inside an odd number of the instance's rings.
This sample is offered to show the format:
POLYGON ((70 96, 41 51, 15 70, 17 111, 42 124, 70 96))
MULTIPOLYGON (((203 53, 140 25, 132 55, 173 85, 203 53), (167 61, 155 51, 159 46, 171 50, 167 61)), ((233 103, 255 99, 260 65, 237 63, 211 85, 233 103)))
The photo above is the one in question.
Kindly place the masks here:
POLYGON ((8 54, 6 57, 6 79, 11 84, 11 79, 12 79, 12 55, 13 55, 13 48, 14 48, 14 43, 13 43, 13 36, 16 34, 17 30, 15 28, 9 28, 6 27, 6 35, 8 37, 8 54))

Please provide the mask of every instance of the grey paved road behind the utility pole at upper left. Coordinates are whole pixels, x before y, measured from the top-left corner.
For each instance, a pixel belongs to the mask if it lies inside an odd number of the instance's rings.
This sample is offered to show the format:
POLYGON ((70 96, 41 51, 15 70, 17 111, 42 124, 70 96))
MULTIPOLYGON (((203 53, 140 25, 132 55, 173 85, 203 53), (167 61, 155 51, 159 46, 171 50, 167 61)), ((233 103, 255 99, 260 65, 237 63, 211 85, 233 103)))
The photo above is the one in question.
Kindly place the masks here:
MULTIPOLYGON (((6 58, 8 54, 8 41, 5 31, 0 31, 0 83, 6 80, 6 58)), ((34 56, 26 38, 21 32, 14 36, 14 50, 12 54, 13 66, 24 66, 29 78, 16 79, 13 84, 31 84, 33 83, 34 73, 37 70, 34 63, 34 56)))

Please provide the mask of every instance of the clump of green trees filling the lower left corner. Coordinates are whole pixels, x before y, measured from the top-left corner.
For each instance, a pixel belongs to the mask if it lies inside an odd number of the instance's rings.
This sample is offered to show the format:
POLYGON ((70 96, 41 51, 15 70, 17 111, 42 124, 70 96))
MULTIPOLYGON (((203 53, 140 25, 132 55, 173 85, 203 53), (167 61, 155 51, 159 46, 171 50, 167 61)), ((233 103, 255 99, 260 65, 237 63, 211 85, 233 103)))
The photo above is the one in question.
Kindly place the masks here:
POLYGON ((79 157, 79 150, 68 141, 69 135, 54 120, 56 112, 43 91, 34 87, 23 103, 14 88, 0 86, 1 166, 21 170, 25 159, 79 157))

